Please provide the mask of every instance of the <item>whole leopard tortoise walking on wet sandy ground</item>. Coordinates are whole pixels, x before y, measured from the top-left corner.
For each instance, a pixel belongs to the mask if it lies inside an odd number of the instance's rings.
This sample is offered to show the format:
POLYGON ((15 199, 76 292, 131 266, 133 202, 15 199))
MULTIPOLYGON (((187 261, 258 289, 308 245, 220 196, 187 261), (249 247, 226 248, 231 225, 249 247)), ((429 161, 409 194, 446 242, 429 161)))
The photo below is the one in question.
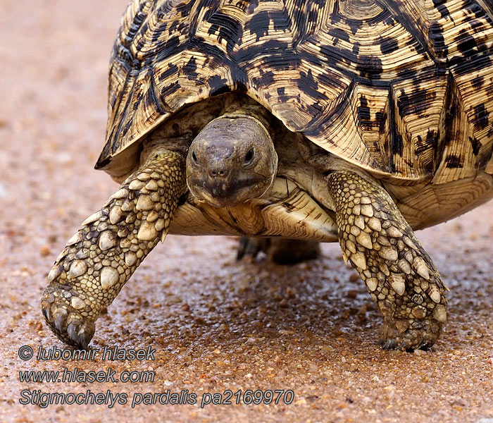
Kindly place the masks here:
POLYGON ((49 326, 87 347, 167 233, 338 240, 382 347, 430 348, 447 287, 413 230, 493 196, 492 46, 489 0, 133 0, 96 163, 121 186, 49 272, 49 326))

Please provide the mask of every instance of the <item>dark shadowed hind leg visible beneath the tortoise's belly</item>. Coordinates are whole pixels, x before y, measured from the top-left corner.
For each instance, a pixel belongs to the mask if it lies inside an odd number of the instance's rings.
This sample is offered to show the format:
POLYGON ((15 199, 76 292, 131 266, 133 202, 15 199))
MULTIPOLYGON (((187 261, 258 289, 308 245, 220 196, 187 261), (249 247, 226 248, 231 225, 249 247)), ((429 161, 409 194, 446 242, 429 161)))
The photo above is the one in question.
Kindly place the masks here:
POLYGON ((277 264, 296 264, 320 256, 320 243, 312 240, 289 238, 253 238, 243 236, 239 240, 237 259, 256 257, 265 252, 267 258, 277 264))

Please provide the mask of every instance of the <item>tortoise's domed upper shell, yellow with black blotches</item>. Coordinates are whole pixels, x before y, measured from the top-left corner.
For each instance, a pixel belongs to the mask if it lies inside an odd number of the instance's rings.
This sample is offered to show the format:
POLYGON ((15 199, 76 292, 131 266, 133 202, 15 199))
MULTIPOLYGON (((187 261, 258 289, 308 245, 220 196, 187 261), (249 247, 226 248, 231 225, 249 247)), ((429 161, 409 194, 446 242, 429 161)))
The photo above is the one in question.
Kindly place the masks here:
POLYGON ((382 177, 493 174, 492 44, 489 0, 135 0, 96 168, 185 104, 239 90, 382 177))

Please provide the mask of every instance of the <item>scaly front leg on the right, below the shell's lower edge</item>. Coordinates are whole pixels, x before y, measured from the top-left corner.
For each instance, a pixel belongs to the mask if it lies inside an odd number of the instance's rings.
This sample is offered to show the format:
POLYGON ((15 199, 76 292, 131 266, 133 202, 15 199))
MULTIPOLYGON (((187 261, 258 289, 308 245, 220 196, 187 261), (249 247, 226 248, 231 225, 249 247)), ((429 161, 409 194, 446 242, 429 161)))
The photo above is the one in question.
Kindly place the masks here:
POLYGON ((445 287, 390 195, 349 171, 327 178, 339 243, 384 315, 383 348, 430 348, 447 322, 445 287))

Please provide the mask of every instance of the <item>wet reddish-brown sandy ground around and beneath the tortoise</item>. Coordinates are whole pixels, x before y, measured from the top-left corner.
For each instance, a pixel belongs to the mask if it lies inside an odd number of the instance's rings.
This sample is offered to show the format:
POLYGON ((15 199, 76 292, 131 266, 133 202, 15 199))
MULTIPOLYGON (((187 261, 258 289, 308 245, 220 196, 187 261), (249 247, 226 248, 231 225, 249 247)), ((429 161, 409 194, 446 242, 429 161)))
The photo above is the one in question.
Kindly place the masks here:
POLYGON ((449 324, 430 352, 380 350, 380 314, 338 245, 325 245, 322 259, 283 267, 235 262, 233 238, 170 236, 99 319, 92 342, 150 345, 154 360, 20 360, 21 345, 35 353, 63 348, 39 309, 46 274, 116 189, 92 166, 125 3, 1 1, 0 421, 493 422, 492 202, 418 233, 451 288, 449 324), (19 371, 65 367, 111 367, 118 376, 147 370, 155 379, 19 381, 19 371), (19 403, 21 390, 88 389, 126 393, 127 404, 19 403), (228 389, 292 390, 294 399, 200 407, 205 393, 228 389), (136 394, 168 390, 196 393, 198 403, 131 407, 136 394))

